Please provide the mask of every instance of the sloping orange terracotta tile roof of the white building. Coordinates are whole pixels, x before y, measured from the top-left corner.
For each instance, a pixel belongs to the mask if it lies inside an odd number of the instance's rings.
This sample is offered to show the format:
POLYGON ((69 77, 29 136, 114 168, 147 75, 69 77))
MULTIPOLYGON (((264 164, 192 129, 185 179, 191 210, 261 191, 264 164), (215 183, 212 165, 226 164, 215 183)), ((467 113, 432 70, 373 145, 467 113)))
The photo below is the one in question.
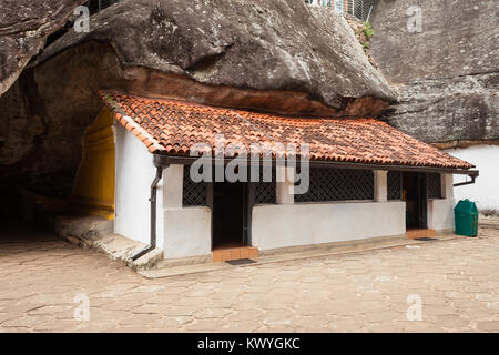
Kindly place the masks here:
MULTIPOLYGON (((307 143, 309 159, 447 169, 473 168, 375 119, 291 118, 167 99, 100 92, 114 116, 151 152, 190 153, 195 143, 307 143)), ((214 154, 214 150, 212 151, 214 154)), ((298 150, 299 152, 299 150, 298 150)), ((277 155, 293 152, 286 149, 277 155)))

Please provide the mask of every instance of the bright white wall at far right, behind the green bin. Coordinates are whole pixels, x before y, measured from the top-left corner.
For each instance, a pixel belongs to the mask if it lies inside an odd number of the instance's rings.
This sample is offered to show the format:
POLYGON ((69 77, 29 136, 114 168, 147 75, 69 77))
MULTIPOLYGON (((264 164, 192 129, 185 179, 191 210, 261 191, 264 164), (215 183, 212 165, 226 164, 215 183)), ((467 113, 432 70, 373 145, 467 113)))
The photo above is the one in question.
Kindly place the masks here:
MULTIPOLYGON (((476 145, 465 149, 447 150, 447 153, 466 160, 480 171, 475 184, 459 186, 454 190, 455 200, 469 199, 477 203, 478 210, 499 210, 499 146, 476 145)), ((469 178, 468 178, 469 179, 469 178)), ((454 181, 462 182, 465 176, 455 175, 454 181)))

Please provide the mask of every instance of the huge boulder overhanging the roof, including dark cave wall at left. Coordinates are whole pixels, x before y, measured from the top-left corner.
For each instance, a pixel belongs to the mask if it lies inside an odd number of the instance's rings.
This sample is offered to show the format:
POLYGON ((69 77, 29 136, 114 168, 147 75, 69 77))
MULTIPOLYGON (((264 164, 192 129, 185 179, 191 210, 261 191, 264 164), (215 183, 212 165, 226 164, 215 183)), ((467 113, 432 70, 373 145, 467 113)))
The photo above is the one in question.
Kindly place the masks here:
MULTIPOLYGON (((286 114, 378 115, 395 95, 343 17, 302 0, 122 0, 0 98, 0 184, 64 196, 100 89, 286 114)), ((12 191, 16 191, 13 189, 12 191)))

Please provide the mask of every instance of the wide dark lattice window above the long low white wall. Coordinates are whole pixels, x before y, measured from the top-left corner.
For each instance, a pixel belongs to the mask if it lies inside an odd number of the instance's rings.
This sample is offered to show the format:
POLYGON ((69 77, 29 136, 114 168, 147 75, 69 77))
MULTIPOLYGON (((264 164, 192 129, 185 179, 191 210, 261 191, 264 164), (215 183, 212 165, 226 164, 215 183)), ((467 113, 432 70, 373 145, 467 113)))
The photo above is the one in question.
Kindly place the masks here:
POLYGON ((295 202, 373 199, 373 171, 357 169, 310 168, 308 192, 295 195, 295 202))

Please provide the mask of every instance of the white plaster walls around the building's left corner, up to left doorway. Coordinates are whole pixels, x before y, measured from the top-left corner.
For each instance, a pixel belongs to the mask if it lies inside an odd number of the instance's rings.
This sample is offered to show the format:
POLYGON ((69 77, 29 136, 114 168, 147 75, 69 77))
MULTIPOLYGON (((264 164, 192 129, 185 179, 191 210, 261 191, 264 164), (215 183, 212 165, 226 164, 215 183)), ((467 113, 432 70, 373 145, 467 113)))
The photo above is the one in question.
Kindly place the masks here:
MULTIPOLYGON (((153 155, 121 124, 116 124, 116 187, 114 231, 150 242, 151 183, 156 174, 153 155)), ((182 207, 183 166, 170 165, 156 191, 156 245, 165 258, 210 254, 211 211, 182 207), (166 183, 167 189, 164 189, 166 183)))

